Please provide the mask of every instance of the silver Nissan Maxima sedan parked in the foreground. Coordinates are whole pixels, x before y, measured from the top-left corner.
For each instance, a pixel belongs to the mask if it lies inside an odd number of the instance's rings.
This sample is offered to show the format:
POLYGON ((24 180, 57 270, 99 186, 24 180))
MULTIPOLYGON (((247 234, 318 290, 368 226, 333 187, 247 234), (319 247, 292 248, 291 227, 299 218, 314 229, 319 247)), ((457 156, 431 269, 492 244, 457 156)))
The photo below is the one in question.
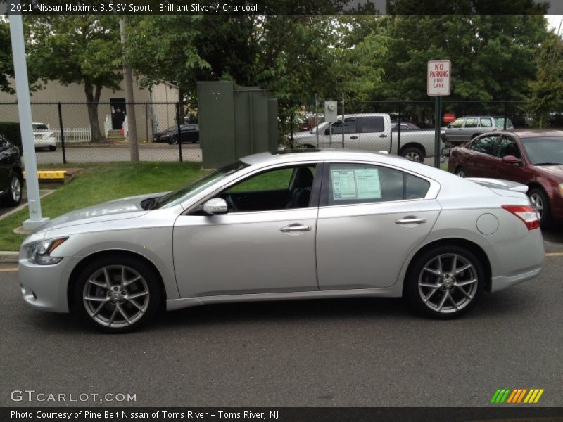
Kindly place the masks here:
POLYGON ((524 191, 387 154, 260 153, 52 219, 21 245, 18 274, 32 307, 109 332, 163 305, 297 298, 405 296, 445 319, 539 274, 524 191))

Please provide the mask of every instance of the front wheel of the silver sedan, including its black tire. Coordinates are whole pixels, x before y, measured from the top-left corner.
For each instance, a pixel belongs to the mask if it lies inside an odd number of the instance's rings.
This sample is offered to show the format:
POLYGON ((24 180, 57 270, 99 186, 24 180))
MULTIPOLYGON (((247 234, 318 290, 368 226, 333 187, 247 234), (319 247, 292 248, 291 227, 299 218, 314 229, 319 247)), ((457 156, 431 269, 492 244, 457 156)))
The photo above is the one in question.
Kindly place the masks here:
POLYGON ((128 255, 101 257, 89 262, 80 271, 72 294, 74 301, 71 311, 104 333, 128 333, 137 330, 153 319, 163 298, 156 271, 146 262, 128 255), (122 267, 126 268, 126 281, 131 281, 137 276, 141 279, 128 286, 120 286, 122 267), (106 281, 104 269, 110 276, 110 289, 101 286, 101 283, 106 281), (148 294, 143 294, 144 291, 148 294), (126 294, 122 295, 122 292, 126 294), (134 298, 134 295, 137 297, 134 298), (87 301, 85 297, 96 300, 87 301), (130 299, 127 299, 129 297, 130 299), (137 305, 134 306, 132 301, 137 305), (98 306, 101 309, 98 309, 98 306), (127 321, 122 312, 129 314, 131 322, 127 321), (115 317, 112 321, 113 314, 115 317))

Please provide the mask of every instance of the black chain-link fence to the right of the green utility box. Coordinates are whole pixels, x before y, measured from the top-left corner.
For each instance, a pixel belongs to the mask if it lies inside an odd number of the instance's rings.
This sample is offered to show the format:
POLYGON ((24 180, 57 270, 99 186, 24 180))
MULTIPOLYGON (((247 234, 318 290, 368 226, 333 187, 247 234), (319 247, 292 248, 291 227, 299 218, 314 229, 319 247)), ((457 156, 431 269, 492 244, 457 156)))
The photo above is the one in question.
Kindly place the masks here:
MULTIPOLYGON (((280 141, 293 148, 388 151, 422 160, 435 155, 435 107, 434 100, 339 101, 339 122, 330 125, 324 122, 322 102, 288 101, 279 104, 280 141), (386 117, 381 114, 391 117, 390 128, 385 127, 386 117)), ((547 123, 549 127, 563 127, 563 103, 550 113, 547 123)), ((536 126, 526 112, 525 101, 455 101, 447 98, 442 101, 439 124, 443 143, 469 141, 476 134, 493 129, 536 126), (464 119, 468 116, 477 118, 464 119), (463 132, 463 136, 457 131, 463 132)))

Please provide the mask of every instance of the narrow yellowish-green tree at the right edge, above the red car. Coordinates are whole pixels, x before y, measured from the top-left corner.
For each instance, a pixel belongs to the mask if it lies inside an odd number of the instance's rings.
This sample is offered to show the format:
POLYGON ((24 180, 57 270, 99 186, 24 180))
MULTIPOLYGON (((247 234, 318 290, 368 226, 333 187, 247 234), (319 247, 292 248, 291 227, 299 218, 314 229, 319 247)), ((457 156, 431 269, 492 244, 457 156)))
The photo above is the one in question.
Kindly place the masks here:
POLYGON ((529 83, 528 109, 538 127, 546 127, 550 113, 562 105, 563 40, 554 32, 543 41, 536 59, 538 75, 529 83))

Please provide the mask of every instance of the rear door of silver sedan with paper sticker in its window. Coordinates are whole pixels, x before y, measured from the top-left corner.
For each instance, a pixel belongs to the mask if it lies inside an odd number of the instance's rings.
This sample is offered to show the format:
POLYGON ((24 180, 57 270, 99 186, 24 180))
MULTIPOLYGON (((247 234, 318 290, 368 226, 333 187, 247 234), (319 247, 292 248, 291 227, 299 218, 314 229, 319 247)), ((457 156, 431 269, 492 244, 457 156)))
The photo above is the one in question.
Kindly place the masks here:
POLYGON ((385 288, 441 210, 436 181, 368 162, 325 162, 317 220, 321 290, 385 288))

